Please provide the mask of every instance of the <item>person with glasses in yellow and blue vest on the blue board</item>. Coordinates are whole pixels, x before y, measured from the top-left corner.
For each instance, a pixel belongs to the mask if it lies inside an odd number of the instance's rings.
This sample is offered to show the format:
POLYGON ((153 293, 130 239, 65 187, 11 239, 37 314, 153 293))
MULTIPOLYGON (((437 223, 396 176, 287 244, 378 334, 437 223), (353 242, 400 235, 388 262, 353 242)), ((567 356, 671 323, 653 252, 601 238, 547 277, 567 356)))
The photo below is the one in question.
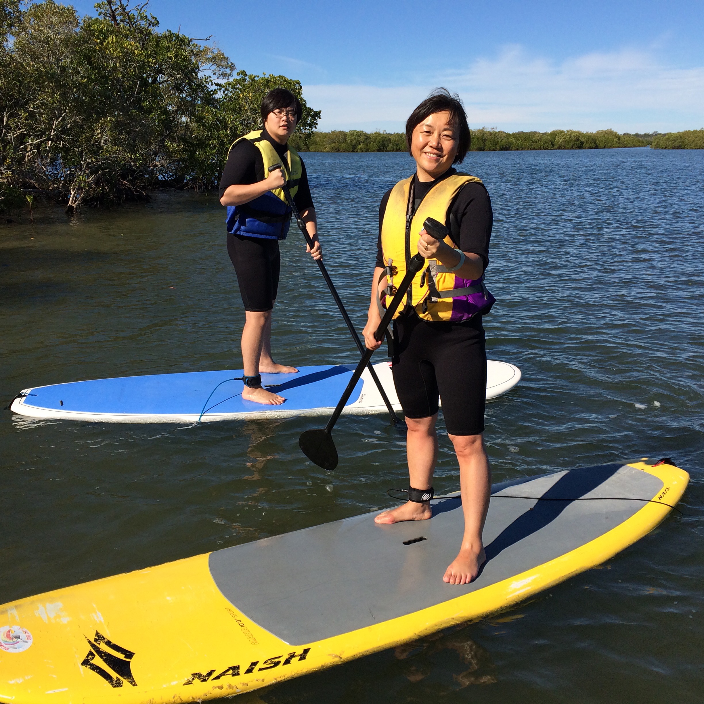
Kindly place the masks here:
POLYGON ((297 372, 271 356, 271 316, 279 286, 279 240, 286 239, 291 208, 282 187, 287 183, 296 208, 313 239, 314 259, 322 257, 306 165, 287 142, 301 119, 301 103, 284 88, 268 92, 260 113, 263 129, 237 139, 227 154, 220 180, 220 203, 227 206, 227 253, 244 303, 241 349, 242 398, 279 406, 286 400, 263 389, 260 372, 297 372), (270 166, 281 165, 270 171, 270 166))

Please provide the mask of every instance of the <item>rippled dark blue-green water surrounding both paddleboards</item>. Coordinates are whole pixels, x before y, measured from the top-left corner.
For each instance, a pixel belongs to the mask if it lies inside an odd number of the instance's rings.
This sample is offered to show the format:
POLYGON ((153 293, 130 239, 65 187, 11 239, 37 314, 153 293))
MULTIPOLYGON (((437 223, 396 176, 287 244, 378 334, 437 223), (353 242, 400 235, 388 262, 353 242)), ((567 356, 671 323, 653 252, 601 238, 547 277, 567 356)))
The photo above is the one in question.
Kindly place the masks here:
MULTIPOLYGON (((325 261, 361 329, 378 202, 410 160, 306 163, 325 261)), ((464 166, 486 183, 496 218, 489 356, 524 375, 487 408, 494 480, 670 456, 692 477, 684 516, 499 617, 261 698, 700 702, 704 152, 470 153, 464 166)), ((282 275, 277 358, 354 362, 295 233, 282 275)), ((213 195, 0 225, 0 399, 39 384, 236 368, 242 318, 213 195)), ((385 490, 408 476, 403 436, 382 416, 344 417, 333 474, 298 451, 298 434, 320 425, 79 425, 4 412, 0 603, 390 505, 385 490)), ((458 487, 441 445, 439 492, 458 487)))

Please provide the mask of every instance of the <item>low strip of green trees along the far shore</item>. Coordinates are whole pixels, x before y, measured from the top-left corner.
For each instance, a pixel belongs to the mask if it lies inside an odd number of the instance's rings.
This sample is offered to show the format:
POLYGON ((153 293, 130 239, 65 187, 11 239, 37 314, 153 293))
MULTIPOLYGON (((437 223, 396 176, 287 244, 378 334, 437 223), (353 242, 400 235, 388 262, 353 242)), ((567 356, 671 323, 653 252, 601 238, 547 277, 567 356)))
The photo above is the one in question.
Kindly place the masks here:
MULTIPOLYGON (((403 132, 363 132, 334 130, 294 134, 289 143, 298 151, 370 152, 407 151, 403 132)), ((537 151, 543 149, 617 149, 651 146, 653 149, 704 149, 704 130, 668 132, 667 134, 619 134, 614 130, 579 132, 503 132, 480 127, 472 130, 470 151, 537 151)))

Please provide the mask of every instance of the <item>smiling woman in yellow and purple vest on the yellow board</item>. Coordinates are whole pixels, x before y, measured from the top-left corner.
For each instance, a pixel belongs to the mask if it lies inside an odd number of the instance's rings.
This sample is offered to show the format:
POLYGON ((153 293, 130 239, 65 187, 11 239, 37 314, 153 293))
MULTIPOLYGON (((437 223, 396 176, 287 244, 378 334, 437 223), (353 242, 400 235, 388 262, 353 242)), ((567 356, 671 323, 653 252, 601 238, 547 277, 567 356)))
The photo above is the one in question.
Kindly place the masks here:
POLYGON ((489 194, 474 176, 456 171, 470 147, 470 128, 458 96, 438 89, 406 122, 415 174, 398 182, 379 207, 377 265, 364 329, 367 348, 381 344, 380 294, 390 296, 416 252, 426 260, 394 321, 391 368, 406 416, 409 501, 377 515, 381 524, 432 517, 430 499, 438 454, 438 396, 460 465, 465 529, 460 551, 444 574, 448 584, 468 584, 486 559, 482 529, 491 473, 484 449, 486 350, 482 314, 494 298, 484 287, 492 213, 489 194), (449 230, 444 240, 426 232, 434 218, 449 230))

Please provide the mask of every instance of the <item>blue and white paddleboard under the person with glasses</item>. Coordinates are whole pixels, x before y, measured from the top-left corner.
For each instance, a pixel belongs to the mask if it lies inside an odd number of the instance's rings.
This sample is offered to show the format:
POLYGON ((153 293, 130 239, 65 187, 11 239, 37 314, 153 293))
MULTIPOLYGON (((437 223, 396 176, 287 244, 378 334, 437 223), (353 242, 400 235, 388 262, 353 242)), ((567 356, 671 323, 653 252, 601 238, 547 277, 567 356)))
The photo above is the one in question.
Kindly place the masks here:
MULTIPOLYGON (((398 403, 391 365, 374 365, 394 409, 398 403)), ((263 374, 262 383, 284 396, 282 406, 263 406, 242 399, 241 370, 184 372, 142 377, 93 379, 24 389, 11 410, 32 418, 63 418, 89 422, 191 423, 210 420, 288 418, 329 415, 352 377, 353 367, 299 367, 297 374, 263 374)), ((487 362, 486 398, 496 398, 520 381, 518 367, 487 362)), ((365 370, 343 413, 386 413, 381 394, 365 370)))

